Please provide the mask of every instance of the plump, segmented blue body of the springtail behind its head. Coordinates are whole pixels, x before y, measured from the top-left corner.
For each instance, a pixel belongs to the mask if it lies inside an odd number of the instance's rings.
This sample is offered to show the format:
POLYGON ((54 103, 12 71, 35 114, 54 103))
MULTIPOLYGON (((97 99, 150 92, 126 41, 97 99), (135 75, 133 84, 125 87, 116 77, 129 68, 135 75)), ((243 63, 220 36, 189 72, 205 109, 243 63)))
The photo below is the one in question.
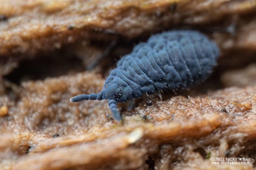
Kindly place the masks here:
POLYGON ((141 89, 152 85, 162 90, 184 88, 206 79, 218 54, 217 46, 199 32, 163 32, 135 46, 110 75, 122 74, 126 82, 133 81, 141 89))

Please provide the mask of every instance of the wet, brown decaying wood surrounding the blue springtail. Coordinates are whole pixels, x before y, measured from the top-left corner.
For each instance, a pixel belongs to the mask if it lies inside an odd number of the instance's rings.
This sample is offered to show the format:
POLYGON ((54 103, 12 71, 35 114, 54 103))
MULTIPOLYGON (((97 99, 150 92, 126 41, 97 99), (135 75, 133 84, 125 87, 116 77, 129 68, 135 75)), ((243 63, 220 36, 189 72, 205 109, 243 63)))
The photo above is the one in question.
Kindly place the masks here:
POLYGON ((255 169, 255 0, 0 4, 0 169, 255 169), (114 56, 170 29, 196 29, 218 44, 207 81, 143 96, 131 111, 119 104, 122 123, 111 120, 107 101, 69 102, 102 89, 114 56), (210 157, 250 160, 215 165, 210 157))

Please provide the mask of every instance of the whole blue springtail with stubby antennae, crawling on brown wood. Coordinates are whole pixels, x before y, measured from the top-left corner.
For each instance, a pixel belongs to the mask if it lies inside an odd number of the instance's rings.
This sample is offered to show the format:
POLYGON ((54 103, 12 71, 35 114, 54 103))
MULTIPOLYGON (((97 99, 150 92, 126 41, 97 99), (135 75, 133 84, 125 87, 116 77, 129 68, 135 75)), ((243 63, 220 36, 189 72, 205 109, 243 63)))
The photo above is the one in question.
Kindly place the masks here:
POLYGON ((71 102, 108 100, 113 117, 121 120, 116 103, 151 95, 158 90, 187 88, 206 79, 216 65, 218 47, 196 31, 168 31, 151 36, 117 62, 97 94, 71 102))

